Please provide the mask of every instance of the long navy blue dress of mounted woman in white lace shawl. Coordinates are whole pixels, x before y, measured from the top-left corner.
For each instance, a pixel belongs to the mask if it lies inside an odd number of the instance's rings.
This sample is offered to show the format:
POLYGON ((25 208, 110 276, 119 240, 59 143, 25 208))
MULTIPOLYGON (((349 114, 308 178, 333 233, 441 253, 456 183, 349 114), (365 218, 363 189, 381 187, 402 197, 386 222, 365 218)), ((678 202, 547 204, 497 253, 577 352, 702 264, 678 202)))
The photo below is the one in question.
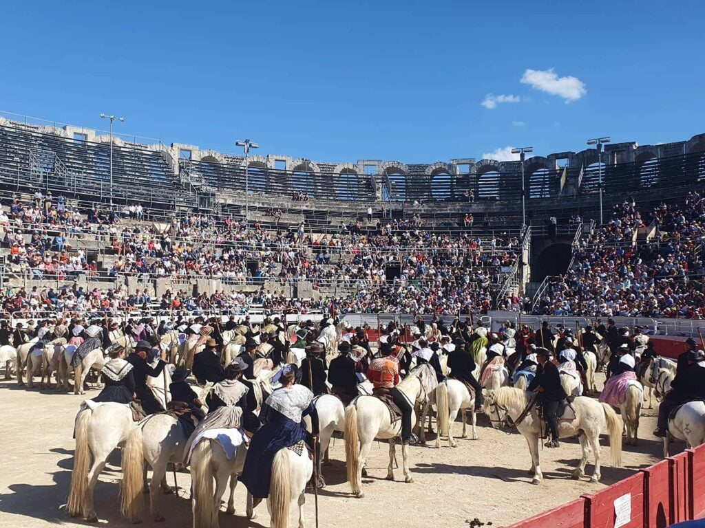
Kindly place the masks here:
MULTIPOLYGON (((282 391, 286 389, 277 389, 282 391)), ((275 391, 275 393, 277 392, 275 391)), ((318 414, 311 402, 301 416, 311 416, 312 429, 318 432, 318 414)), ((271 479, 271 465, 274 462, 274 455, 283 448, 294 446, 305 440, 310 445, 311 435, 306 431, 303 421, 295 422, 271 408, 266 402, 262 406, 259 418, 264 425, 252 436, 250 448, 247 449, 245 467, 240 477, 240 482, 245 484, 255 498, 266 498, 269 496, 269 481, 271 479)))

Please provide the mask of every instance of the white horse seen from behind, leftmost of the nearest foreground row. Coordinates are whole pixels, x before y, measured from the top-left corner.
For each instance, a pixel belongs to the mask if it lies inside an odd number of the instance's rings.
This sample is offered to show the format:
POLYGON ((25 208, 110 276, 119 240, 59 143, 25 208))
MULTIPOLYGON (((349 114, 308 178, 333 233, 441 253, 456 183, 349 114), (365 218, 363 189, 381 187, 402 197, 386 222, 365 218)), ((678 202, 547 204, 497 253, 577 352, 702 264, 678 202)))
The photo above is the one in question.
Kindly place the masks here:
POLYGON ((73 455, 67 510, 71 517, 96 522, 93 491, 108 456, 127 441, 135 428, 132 411, 123 403, 93 404, 81 410, 75 420, 76 450, 73 455), (92 458, 92 460, 91 460, 92 458))

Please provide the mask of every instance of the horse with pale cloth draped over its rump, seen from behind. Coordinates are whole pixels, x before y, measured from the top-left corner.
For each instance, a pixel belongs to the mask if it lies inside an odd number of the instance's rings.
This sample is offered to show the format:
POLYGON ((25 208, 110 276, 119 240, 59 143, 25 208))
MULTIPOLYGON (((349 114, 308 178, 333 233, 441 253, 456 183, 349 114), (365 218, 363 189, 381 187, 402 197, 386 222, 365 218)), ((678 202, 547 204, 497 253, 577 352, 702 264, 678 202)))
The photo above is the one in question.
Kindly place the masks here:
POLYGON ((230 479, 228 515, 235 514, 235 486, 245 466, 247 448, 240 444, 235 455, 228 458, 221 444, 202 438, 191 454, 193 528, 218 528, 221 498, 230 479), (213 482, 215 481, 215 489, 213 482))

